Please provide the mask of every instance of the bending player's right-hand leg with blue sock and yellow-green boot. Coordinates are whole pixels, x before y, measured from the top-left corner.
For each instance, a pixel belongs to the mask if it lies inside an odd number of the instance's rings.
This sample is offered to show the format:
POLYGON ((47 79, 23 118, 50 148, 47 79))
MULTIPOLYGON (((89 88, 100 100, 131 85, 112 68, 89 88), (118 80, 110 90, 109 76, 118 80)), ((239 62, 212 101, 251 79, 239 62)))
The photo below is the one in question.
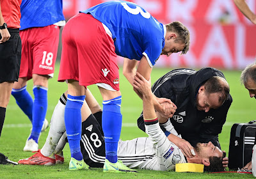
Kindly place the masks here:
POLYGON ((122 128, 120 91, 111 91, 99 87, 103 98, 102 110, 102 129, 105 138, 106 160, 104 163, 104 172, 136 172, 133 169, 122 164, 117 159, 117 147, 122 128))

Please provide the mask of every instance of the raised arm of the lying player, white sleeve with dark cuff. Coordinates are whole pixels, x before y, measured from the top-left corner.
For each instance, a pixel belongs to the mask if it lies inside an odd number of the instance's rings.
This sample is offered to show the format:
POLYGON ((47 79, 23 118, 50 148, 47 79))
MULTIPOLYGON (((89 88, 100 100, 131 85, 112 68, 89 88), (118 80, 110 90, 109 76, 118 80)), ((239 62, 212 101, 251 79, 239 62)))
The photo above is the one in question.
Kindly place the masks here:
POLYGON ((136 73, 133 86, 143 94, 143 118, 145 127, 147 128, 147 134, 154 143, 154 146, 156 146, 156 153, 157 156, 159 156, 157 159, 160 164, 164 164, 166 170, 174 169, 174 164, 172 162, 174 155, 177 154, 180 156, 180 159, 177 160, 179 163, 184 162, 184 157, 179 148, 166 139, 164 132, 159 127, 153 105, 154 95, 150 89, 150 82, 139 73, 136 73))

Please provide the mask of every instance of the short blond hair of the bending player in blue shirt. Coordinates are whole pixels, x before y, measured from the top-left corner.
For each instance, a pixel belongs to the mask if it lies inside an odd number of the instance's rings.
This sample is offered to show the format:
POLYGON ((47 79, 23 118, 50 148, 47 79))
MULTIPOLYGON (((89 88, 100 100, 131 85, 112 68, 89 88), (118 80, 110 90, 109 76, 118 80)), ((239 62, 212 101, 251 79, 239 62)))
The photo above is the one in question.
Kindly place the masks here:
POLYGON ((185 44, 184 49, 182 50, 181 54, 186 54, 189 50, 189 38, 190 38, 190 34, 188 31, 188 28, 186 26, 184 26, 181 22, 179 21, 174 21, 170 24, 166 24, 166 30, 173 32, 173 33, 177 33, 178 36, 175 40, 175 42, 181 42, 185 44))

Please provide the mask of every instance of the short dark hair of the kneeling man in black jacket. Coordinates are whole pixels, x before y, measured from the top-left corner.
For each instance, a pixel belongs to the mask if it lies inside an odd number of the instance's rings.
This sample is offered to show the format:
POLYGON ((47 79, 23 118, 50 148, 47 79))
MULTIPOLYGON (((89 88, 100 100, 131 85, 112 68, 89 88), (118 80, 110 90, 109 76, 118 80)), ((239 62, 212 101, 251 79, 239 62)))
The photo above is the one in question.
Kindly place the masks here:
POLYGON ((223 102, 228 99, 230 88, 227 81, 222 77, 211 77, 203 85, 205 87, 205 93, 207 94, 221 93, 221 97, 219 98, 219 102, 221 102, 221 104, 223 104, 223 102), (225 82, 223 83, 222 81, 225 82))

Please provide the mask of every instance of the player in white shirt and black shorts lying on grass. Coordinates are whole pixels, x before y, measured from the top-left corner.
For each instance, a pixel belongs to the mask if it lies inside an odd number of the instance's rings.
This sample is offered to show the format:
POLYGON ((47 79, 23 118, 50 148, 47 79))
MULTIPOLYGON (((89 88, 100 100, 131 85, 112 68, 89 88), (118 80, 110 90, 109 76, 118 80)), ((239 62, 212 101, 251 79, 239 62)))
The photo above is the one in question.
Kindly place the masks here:
MULTIPOLYGON (((193 157, 184 157, 181 150, 168 140, 164 135, 164 132, 159 127, 156 112, 152 103, 154 96, 150 90, 150 82, 137 73, 134 78, 134 88, 138 89, 143 94, 144 121, 148 137, 138 137, 129 141, 120 140, 118 142, 118 163, 123 163, 125 166, 129 166, 130 168, 169 171, 175 169, 175 164, 189 162, 204 164, 207 171, 211 171, 212 169, 214 171, 224 170, 222 160, 225 157, 225 153, 223 153, 218 147, 214 146, 211 142, 196 144, 193 157)), ((61 97, 65 97, 65 95, 61 97)), ((60 102, 58 105, 52 115, 52 121, 60 119, 56 118, 56 114, 59 116, 61 114, 61 111, 58 110, 60 109, 60 102)), ((61 107, 63 108, 61 114, 63 118, 65 105, 62 104, 61 107)), ((52 130, 50 128, 49 134, 51 131, 52 130)), ((108 163, 104 164, 104 136, 102 135, 102 129, 93 114, 87 116, 87 119, 83 121, 82 133, 81 151, 86 164, 90 167, 102 167, 104 165, 104 170, 106 169, 113 172, 126 171, 126 168, 120 168, 118 165, 113 166, 110 164, 108 165, 108 163)), ((175 133, 174 128, 173 133, 175 133)), ((48 136, 41 151, 39 150, 28 159, 19 160, 19 164, 56 164, 57 159, 54 158, 54 153, 60 153, 62 151, 62 148, 65 145, 65 135, 61 137, 57 147, 55 147, 57 143, 52 145, 50 141, 51 140, 49 140, 48 136), (48 151, 43 152, 45 148, 48 148, 48 151), (51 152, 49 152, 49 150, 51 150, 51 152), (45 155, 45 153, 48 153, 48 155, 45 155)), ((77 164, 74 164, 74 169, 77 169, 76 165, 77 164)), ((129 168, 127 167, 127 169, 129 168)), ((129 169, 129 171, 131 170, 129 169)))

